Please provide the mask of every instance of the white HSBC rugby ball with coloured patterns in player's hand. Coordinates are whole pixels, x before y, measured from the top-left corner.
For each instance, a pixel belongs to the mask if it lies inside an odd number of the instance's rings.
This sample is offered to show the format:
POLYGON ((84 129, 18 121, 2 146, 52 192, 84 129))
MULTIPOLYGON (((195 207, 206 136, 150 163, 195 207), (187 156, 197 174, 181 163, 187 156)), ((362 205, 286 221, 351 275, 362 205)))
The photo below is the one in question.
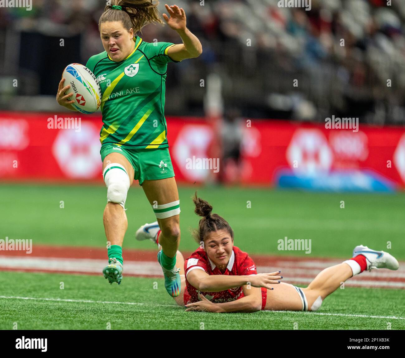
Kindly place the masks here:
POLYGON ((70 85, 65 94, 73 92, 73 96, 69 99, 75 101, 72 106, 77 111, 90 114, 98 110, 101 90, 92 71, 82 64, 70 64, 64 69, 62 78, 65 79, 64 87, 70 85))

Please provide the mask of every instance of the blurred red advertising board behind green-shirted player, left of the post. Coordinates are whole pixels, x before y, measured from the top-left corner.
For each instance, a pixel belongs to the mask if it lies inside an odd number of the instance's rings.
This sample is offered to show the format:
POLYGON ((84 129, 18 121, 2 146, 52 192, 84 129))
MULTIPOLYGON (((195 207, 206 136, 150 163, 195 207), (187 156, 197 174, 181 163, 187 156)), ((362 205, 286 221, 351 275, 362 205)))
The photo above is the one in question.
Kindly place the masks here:
MULTIPOLYGON (((102 182, 101 116, 59 120, 68 115, 0 112, 0 180, 102 182), (65 128, 58 128, 58 123, 65 128)), ((176 180, 205 181, 209 170, 190 170, 183 164, 193 156, 209 157, 211 126, 192 117, 167 117, 167 121, 176 180)))

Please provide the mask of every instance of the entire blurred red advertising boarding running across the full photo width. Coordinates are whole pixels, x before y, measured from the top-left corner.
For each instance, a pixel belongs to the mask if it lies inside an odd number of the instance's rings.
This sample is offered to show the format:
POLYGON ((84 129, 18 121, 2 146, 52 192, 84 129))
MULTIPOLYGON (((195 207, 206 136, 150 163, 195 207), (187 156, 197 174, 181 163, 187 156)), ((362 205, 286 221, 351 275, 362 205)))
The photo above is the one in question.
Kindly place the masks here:
MULTIPOLYGON (((67 115, 70 113, 0 112, 0 180, 102 183, 101 116, 83 115, 80 121, 71 122, 70 129, 52 128, 55 118, 67 115)), ((215 168, 198 166, 198 159, 212 156, 211 147, 217 140, 212 125, 201 118, 166 119, 177 182, 209 180, 215 168)), ((241 165, 237 170, 242 184, 279 185, 280 173, 286 171, 295 177, 367 171, 404 187, 404 128, 359 124, 354 131, 326 129, 323 124, 252 119, 248 126, 243 124, 242 131, 241 165)), ((352 179, 361 181, 364 177, 352 175, 352 179)))

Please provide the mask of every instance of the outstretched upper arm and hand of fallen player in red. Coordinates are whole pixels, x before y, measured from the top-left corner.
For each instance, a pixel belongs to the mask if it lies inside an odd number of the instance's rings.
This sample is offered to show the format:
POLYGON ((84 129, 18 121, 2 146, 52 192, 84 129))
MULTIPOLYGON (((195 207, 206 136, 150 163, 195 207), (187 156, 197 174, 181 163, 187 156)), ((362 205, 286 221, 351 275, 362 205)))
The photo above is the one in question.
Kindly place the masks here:
POLYGON ((203 270, 192 270, 187 280, 197 290, 202 292, 220 292, 233 287, 250 285, 252 287, 265 287, 271 290, 271 285, 279 283, 279 272, 258 273, 256 275, 208 275, 203 270))

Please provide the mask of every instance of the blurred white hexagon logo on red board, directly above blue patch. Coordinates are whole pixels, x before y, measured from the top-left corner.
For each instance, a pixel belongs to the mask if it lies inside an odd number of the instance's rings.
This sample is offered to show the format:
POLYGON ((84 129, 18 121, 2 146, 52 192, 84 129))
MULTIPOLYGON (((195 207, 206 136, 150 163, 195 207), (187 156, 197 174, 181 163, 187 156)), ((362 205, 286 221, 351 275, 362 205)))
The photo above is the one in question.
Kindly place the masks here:
POLYGON ((287 161, 303 175, 328 172, 333 153, 324 134, 318 129, 298 129, 287 148, 287 161))

